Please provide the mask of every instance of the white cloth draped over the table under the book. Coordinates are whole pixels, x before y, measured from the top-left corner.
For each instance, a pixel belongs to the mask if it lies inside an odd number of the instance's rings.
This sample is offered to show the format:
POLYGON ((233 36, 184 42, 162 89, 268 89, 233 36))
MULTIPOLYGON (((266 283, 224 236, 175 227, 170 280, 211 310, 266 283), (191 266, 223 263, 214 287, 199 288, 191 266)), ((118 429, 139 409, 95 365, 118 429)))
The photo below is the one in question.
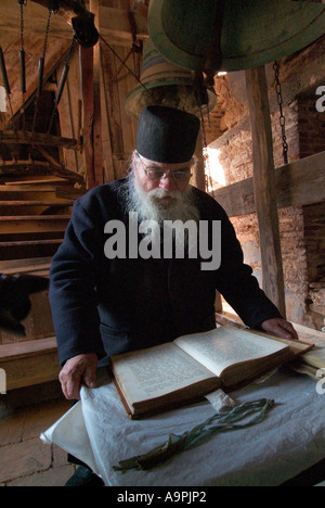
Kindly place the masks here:
POLYGON ((238 390, 239 403, 274 399, 253 427, 218 433, 150 471, 119 472, 118 462, 142 455, 214 414, 206 401, 144 420, 130 420, 114 384, 81 389, 74 406, 41 439, 86 462, 107 486, 276 486, 325 458, 325 395, 288 368, 238 390))

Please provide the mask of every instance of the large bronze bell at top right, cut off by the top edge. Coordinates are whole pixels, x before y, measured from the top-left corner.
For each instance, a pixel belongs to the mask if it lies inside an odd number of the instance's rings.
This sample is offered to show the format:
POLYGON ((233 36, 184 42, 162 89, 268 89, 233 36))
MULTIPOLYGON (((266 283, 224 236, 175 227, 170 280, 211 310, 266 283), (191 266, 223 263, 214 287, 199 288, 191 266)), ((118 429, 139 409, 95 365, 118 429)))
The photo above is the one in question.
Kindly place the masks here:
POLYGON ((258 67, 306 48, 325 33, 325 4, 291 0, 152 0, 157 50, 193 71, 258 67))

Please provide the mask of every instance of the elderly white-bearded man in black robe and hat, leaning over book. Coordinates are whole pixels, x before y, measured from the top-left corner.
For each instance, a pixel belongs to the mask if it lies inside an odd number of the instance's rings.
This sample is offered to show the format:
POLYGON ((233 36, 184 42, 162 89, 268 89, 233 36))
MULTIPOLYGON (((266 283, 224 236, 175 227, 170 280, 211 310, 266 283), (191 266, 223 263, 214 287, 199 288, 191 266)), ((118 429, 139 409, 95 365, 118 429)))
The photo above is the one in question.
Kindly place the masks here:
POLYGON ((79 398, 81 383, 95 386, 98 366, 113 354, 216 327, 216 290, 248 327, 297 338, 244 264, 223 208, 190 186, 198 130, 194 115, 164 106, 145 107, 128 177, 90 190, 74 205, 50 274, 63 366, 60 380, 67 398, 79 398), (161 230, 166 221, 178 219, 205 225, 219 221, 218 268, 203 269, 199 253, 179 257, 173 250, 173 255, 164 257, 161 249, 160 256, 134 255, 141 252, 138 247, 144 237, 134 237, 130 230, 130 214, 139 225, 155 220, 161 230), (116 239, 126 243, 121 255, 107 252, 107 231, 113 232, 113 226, 121 226, 123 234, 116 239))

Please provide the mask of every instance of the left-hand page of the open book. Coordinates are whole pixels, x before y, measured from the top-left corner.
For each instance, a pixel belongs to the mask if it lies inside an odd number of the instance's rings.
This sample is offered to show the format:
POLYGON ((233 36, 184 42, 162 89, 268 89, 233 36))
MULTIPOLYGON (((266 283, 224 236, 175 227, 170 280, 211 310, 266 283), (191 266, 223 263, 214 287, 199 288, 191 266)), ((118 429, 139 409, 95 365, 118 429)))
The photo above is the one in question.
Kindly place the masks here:
POLYGON ((114 373, 129 402, 146 401, 180 390, 213 373, 172 342, 112 357, 114 373))

